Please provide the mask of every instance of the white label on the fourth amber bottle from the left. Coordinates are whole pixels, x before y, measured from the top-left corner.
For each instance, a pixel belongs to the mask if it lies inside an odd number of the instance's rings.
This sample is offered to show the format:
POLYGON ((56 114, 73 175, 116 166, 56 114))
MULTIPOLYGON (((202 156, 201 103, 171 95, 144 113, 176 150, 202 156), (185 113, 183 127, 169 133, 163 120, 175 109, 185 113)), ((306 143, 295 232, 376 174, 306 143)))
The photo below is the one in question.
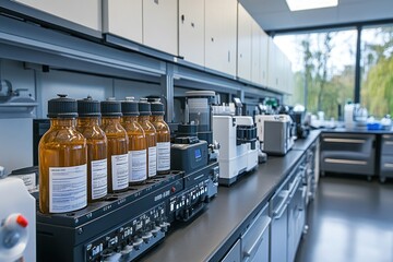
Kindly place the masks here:
POLYGON ((129 162, 130 162, 130 182, 140 182, 146 180, 146 163, 147 163, 147 153, 146 150, 141 151, 130 151, 129 152, 129 162))

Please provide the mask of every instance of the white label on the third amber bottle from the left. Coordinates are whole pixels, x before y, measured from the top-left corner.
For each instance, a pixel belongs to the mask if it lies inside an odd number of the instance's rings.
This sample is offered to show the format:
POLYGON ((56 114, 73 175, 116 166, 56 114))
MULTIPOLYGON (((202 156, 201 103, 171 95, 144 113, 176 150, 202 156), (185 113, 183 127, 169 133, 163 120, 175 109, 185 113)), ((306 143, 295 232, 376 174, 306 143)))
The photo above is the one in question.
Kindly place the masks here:
POLYGON ((112 190, 121 190, 128 187, 129 165, 128 154, 112 155, 112 190))

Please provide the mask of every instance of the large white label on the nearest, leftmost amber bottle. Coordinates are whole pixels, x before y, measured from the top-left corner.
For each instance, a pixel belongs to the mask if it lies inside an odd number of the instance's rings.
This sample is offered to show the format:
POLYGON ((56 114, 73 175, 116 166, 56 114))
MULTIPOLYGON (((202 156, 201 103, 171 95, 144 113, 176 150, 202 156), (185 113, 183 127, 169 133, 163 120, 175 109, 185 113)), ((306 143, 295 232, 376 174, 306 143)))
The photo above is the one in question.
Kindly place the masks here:
POLYGON ((71 212, 86 205, 87 165, 49 167, 49 212, 71 212))

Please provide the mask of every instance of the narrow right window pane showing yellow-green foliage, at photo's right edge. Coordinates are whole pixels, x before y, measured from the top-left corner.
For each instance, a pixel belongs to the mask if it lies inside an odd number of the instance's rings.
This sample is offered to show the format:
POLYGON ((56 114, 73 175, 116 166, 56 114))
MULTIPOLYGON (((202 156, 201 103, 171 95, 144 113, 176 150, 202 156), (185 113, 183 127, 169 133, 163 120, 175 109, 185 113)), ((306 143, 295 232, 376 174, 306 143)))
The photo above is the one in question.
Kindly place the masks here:
POLYGON ((369 115, 393 115, 393 25, 361 31, 361 104, 369 115))

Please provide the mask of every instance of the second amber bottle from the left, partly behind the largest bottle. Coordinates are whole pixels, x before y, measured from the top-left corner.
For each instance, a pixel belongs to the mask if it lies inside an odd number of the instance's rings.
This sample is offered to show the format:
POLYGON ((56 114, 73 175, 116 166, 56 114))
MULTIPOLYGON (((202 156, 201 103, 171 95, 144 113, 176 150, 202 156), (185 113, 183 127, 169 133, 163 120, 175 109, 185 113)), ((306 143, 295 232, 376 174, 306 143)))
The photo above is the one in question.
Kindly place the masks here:
POLYGON ((87 143, 87 202, 104 199, 108 193, 107 139, 99 127, 98 100, 87 97, 78 100, 76 130, 87 143))

